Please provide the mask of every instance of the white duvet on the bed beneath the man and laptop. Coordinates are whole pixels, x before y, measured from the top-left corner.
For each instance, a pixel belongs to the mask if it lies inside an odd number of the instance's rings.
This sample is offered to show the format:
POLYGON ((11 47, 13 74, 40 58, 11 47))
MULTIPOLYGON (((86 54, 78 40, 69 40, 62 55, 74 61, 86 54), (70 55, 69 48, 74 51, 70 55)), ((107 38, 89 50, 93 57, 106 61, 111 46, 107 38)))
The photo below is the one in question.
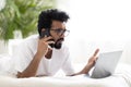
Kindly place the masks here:
POLYGON ((85 75, 29 78, 1 75, 0 87, 131 87, 131 66, 120 64, 112 76, 99 79, 93 79, 85 75))

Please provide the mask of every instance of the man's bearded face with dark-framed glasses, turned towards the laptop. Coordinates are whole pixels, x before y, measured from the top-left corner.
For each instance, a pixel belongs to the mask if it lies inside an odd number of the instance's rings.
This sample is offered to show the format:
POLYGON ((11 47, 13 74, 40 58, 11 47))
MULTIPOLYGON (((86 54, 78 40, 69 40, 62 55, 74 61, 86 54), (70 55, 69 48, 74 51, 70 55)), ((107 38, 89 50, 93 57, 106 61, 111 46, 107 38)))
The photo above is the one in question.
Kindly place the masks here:
POLYGON ((52 21, 50 35, 55 40, 55 48, 60 49, 64 40, 66 24, 59 21, 52 21))

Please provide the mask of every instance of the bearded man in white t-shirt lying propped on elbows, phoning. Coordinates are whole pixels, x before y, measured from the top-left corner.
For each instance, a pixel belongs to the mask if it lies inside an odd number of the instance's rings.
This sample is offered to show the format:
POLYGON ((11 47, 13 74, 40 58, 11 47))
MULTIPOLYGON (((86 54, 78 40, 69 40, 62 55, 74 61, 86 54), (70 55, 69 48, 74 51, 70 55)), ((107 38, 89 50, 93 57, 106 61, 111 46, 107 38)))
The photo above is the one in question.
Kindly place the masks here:
POLYGON ((38 17, 39 36, 31 36, 20 44, 14 54, 14 65, 17 77, 55 75, 60 69, 66 75, 87 74, 94 66, 98 49, 88 63, 79 73, 74 73, 68 48, 62 44, 66 34, 66 22, 69 15, 55 10, 43 11, 38 17))

